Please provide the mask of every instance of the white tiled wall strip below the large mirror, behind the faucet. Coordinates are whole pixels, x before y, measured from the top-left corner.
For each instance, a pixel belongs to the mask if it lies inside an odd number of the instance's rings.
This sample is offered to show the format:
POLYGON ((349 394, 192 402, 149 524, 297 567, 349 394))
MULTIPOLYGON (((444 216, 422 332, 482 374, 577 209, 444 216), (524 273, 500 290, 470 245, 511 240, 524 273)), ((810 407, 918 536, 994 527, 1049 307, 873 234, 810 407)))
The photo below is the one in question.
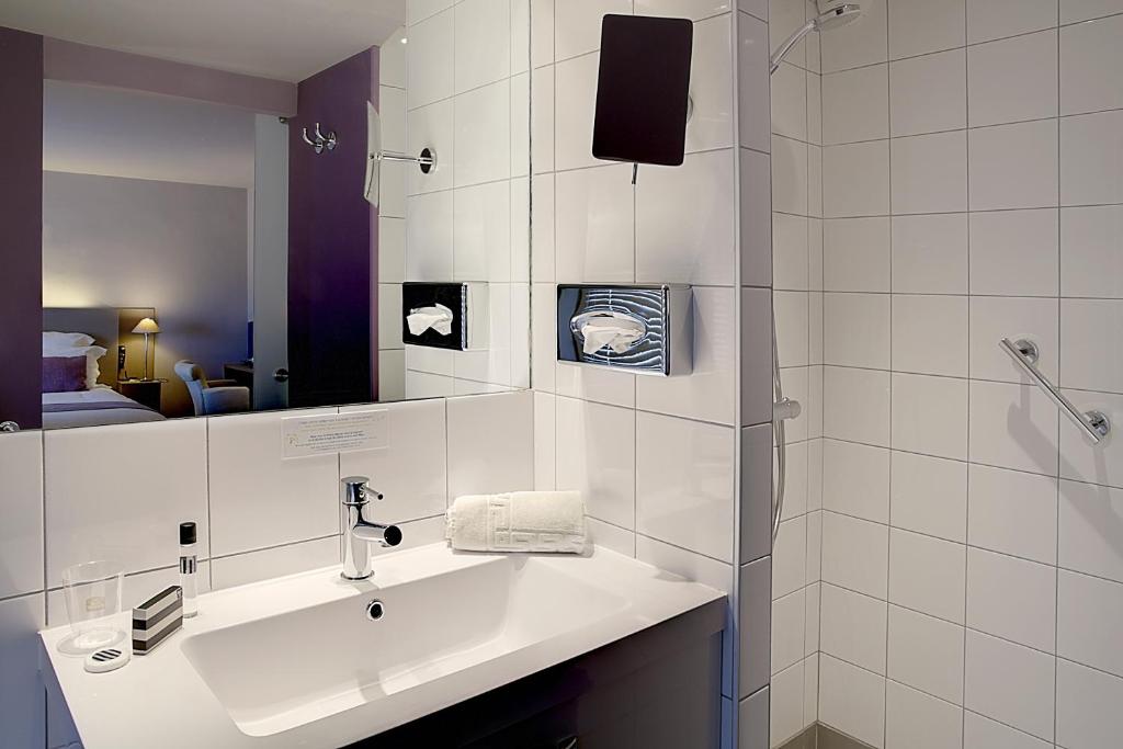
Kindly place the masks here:
MULTIPOLYGON (((4 747, 44 747, 36 630, 65 624, 60 570, 95 558, 126 572, 126 605, 177 579, 177 527, 199 523, 204 588, 338 564, 338 482, 385 494, 405 546, 444 536, 449 500, 533 485, 528 391, 347 407, 389 411, 385 449, 285 460, 292 413, 22 432, 0 438, 0 725, 4 747), (485 426, 486 424, 486 426, 485 426)), ((301 414, 332 413, 334 409, 301 414)), ((61 703, 48 747, 76 741, 61 703)))

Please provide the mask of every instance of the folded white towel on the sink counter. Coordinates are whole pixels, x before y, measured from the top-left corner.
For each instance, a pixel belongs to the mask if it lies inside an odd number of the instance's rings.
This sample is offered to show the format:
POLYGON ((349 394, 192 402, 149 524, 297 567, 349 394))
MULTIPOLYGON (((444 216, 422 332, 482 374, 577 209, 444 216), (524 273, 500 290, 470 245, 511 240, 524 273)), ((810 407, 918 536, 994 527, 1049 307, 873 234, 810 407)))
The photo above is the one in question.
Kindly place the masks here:
POLYGON ((579 492, 459 496, 445 518, 445 538, 462 551, 585 550, 585 503, 579 492))

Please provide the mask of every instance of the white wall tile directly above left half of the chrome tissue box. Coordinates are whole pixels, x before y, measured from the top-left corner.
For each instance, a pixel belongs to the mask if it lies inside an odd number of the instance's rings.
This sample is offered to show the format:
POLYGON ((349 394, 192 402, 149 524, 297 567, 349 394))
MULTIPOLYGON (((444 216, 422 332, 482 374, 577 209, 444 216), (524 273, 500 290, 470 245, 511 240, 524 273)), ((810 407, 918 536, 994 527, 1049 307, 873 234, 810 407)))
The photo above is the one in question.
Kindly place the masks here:
POLYGON ((634 280, 634 195, 630 172, 630 166, 622 164, 557 174, 558 281, 634 280))

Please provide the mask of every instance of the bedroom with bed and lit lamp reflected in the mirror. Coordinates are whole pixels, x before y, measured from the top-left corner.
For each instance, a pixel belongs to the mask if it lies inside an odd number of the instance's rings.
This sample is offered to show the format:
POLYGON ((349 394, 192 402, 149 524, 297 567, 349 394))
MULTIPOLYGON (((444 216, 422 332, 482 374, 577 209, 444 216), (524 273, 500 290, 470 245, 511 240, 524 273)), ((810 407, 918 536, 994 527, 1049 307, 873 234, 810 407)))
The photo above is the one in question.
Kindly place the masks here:
POLYGON ((255 113, 49 80, 43 113, 43 426, 283 405, 254 392, 255 113))

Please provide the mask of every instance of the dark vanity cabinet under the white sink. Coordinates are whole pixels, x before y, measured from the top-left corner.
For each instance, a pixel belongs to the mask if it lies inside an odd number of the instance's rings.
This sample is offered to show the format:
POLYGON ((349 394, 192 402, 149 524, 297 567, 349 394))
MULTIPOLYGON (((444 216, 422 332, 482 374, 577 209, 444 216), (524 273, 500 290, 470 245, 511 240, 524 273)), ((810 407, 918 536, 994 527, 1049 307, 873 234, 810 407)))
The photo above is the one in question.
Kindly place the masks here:
POLYGON ((347 749, 716 749, 724 600, 347 749))

